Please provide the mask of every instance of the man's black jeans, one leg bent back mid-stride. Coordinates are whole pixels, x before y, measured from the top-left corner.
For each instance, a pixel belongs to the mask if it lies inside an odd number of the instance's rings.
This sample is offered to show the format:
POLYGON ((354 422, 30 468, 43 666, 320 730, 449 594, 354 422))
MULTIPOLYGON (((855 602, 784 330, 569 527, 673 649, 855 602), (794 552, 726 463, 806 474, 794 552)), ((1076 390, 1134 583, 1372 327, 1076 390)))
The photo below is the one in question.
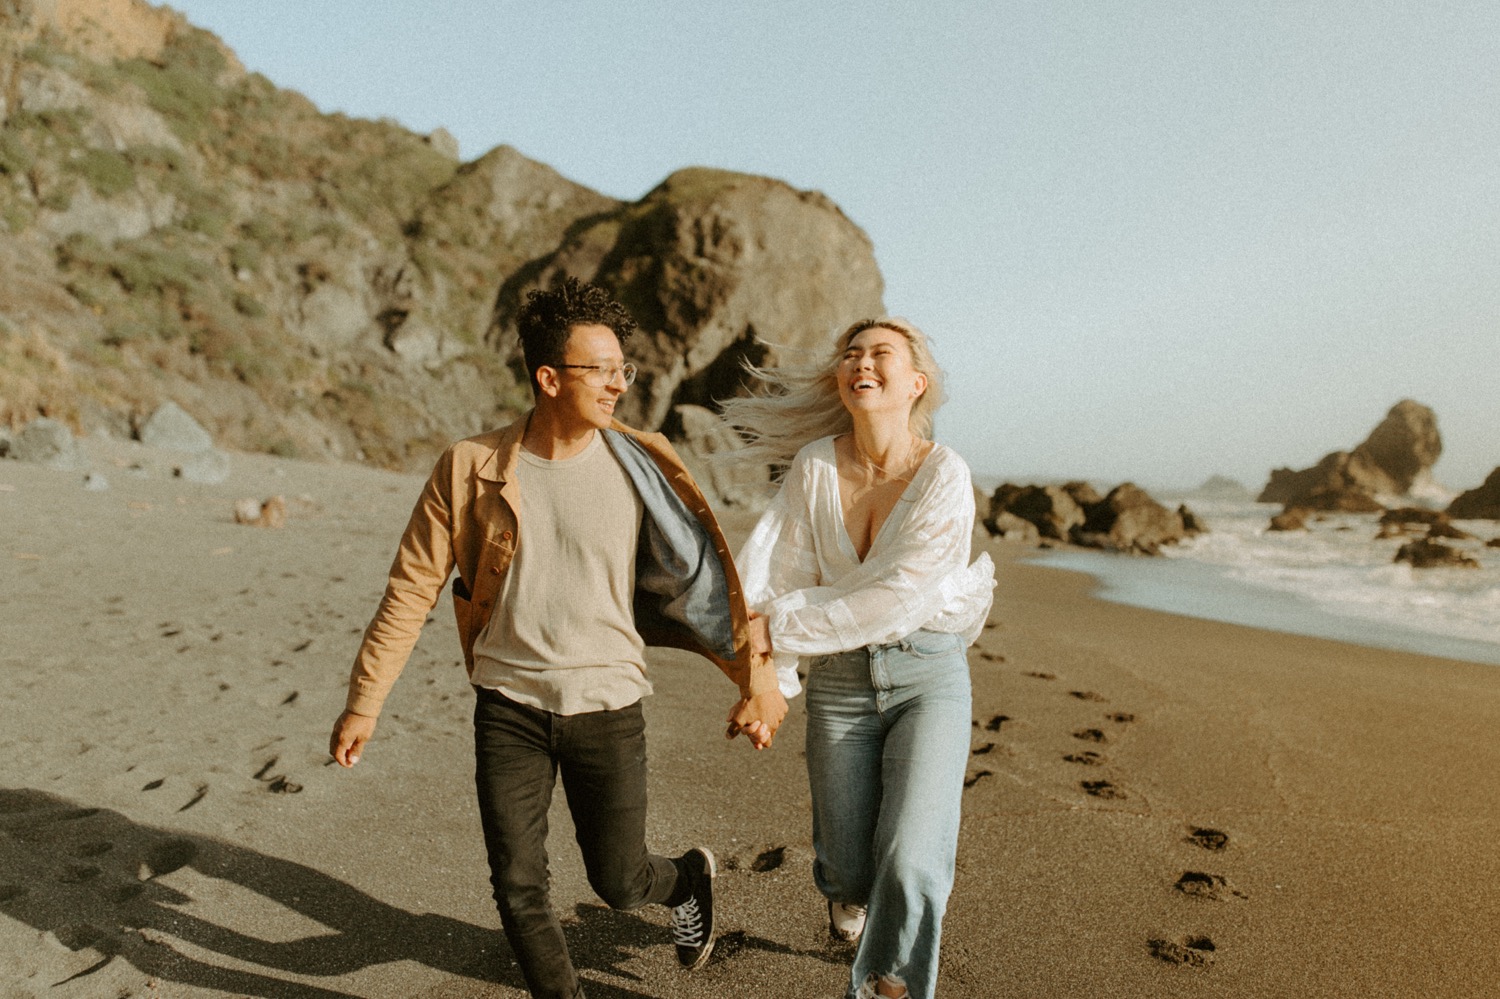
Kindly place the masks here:
POLYGON ((576 999, 584 993, 548 879, 548 807, 560 770, 598 897, 614 909, 684 902, 674 862, 646 852, 645 717, 639 702, 552 714, 496 690, 476 693, 474 780, 500 921, 531 994, 576 999))

